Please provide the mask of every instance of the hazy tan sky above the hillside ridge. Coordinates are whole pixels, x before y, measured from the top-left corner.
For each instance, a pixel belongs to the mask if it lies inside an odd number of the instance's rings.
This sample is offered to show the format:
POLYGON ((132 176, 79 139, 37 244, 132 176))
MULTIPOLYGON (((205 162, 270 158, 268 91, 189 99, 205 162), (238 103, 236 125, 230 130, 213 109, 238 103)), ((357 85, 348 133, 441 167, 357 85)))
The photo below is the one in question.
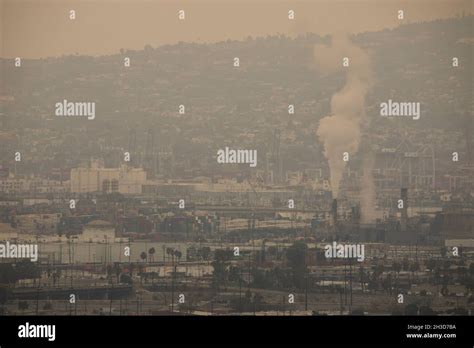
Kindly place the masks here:
POLYGON ((472 13, 473 0, 0 0, 0 56, 103 55, 249 35, 372 31, 472 13), (69 19, 69 11, 76 19, 69 19), (186 19, 178 20, 185 10, 186 19), (295 19, 288 19, 288 10, 295 19), (404 10, 405 20, 397 19, 404 10))

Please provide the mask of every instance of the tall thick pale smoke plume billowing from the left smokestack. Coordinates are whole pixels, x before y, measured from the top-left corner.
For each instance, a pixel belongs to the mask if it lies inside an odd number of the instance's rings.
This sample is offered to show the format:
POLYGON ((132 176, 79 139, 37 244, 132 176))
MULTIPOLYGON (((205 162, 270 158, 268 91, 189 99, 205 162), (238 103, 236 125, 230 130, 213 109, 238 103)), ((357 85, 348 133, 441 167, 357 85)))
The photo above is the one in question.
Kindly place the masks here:
POLYGON ((361 141, 361 127, 366 121, 365 96, 372 81, 370 59, 347 36, 333 36, 330 47, 316 46, 314 59, 321 72, 346 71, 346 84, 332 96, 331 114, 321 119, 316 132, 324 144, 332 193, 337 198, 346 166, 343 153, 348 152, 349 156, 353 156, 357 152, 361 141), (342 64, 344 57, 349 58, 348 67, 342 64))

